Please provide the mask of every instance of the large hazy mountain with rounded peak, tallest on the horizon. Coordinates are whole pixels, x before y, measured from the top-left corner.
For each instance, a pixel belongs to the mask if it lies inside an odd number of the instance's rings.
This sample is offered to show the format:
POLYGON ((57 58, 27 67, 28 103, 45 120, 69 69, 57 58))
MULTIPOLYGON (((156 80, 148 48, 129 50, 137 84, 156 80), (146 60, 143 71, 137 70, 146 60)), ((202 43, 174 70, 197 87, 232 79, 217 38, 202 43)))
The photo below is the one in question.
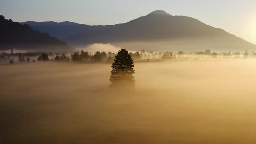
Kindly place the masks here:
POLYGON ((252 43, 187 16, 172 16, 157 10, 108 29, 75 34, 64 39, 72 46, 111 43, 129 50, 244 51, 252 43))

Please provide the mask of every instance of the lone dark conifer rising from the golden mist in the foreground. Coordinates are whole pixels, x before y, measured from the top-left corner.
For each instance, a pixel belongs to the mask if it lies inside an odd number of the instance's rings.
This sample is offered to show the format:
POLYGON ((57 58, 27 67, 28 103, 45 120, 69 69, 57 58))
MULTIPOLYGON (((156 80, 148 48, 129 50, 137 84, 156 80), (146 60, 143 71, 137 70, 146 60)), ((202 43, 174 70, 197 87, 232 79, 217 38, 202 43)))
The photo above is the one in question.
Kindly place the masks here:
POLYGON ((112 63, 112 71, 110 76, 111 86, 122 85, 122 86, 134 86, 135 73, 133 59, 128 54, 126 49, 121 49, 115 56, 114 62, 112 63))

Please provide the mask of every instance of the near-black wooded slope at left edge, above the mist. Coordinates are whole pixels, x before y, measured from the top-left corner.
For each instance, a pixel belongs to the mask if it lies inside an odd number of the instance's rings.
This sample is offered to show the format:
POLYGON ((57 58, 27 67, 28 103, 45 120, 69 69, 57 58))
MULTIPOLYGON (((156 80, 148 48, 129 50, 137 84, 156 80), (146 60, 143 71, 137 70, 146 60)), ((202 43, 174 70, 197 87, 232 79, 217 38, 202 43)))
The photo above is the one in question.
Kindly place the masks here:
POLYGON ((21 25, 11 19, 6 20, 2 15, 0 15, 0 32, 0 45, 43 44, 66 46, 66 43, 51 37, 48 33, 40 33, 33 30, 29 25, 21 25))

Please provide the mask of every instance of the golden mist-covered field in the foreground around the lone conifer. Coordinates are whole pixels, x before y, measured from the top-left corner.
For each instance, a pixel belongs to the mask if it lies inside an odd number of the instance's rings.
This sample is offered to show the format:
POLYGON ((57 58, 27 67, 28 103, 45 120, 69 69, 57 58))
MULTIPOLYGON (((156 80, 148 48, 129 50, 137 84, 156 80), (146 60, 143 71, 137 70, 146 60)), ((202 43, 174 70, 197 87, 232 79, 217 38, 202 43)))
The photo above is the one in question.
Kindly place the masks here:
POLYGON ((0 65, 1 144, 255 144, 256 60, 0 65))

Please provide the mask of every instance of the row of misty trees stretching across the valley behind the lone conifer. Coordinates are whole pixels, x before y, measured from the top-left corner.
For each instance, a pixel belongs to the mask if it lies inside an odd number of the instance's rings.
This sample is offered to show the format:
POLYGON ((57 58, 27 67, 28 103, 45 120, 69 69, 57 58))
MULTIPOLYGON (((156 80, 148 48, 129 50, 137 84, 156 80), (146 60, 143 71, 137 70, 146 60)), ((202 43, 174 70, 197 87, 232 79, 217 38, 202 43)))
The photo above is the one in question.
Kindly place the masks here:
MULTIPOLYGON (((164 60, 199 60, 199 59, 245 59, 245 58, 256 58, 256 53, 249 53, 247 50, 245 53, 240 52, 211 52, 210 49, 206 49, 204 52, 153 52, 145 51, 141 52, 129 52, 132 59, 137 62, 149 62, 149 61, 164 61, 164 60)), ((26 52, 26 53, 14 53, 11 49, 10 53, 0 53, 0 63, 15 62, 15 58, 18 58, 16 62, 109 62, 112 63, 115 59, 116 53, 114 52, 95 52, 91 54, 89 52, 73 52, 71 55, 66 53, 55 53, 53 52, 26 52), (49 57, 48 57, 49 56, 49 57), (31 59, 33 58, 33 59, 31 59)))

